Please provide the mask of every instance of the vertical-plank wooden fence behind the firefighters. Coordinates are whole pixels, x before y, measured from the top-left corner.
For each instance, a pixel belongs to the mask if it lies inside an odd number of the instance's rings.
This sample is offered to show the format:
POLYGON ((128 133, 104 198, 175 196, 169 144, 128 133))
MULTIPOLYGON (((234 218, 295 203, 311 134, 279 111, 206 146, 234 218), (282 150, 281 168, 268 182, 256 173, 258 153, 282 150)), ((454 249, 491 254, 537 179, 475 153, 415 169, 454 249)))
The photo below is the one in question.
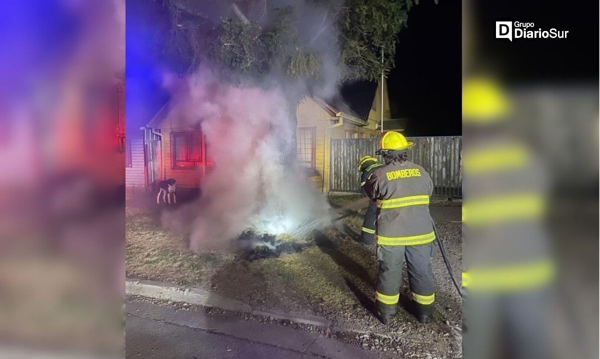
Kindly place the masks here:
MULTIPOLYGON (((409 160, 421 165, 433 180, 434 194, 461 197, 463 173, 461 161, 462 138, 407 137, 415 146, 407 150, 409 160)), ((330 191, 360 192, 361 174, 356 162, 361 156, 374 155, 379 138, 331 140, 329 167, 330 191)), ((381 158, 379 158, 381 161, 381 158)))

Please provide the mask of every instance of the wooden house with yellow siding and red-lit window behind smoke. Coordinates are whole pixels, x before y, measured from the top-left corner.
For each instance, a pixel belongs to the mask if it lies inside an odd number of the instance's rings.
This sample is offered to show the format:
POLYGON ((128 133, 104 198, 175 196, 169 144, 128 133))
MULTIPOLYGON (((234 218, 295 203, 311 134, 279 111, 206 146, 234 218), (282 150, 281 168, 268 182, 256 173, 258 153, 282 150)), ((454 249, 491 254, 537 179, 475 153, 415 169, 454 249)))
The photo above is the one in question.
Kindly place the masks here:
MULTIPOLYGON (((330 140, 376 137, 381 111, 384 120, 390 119, 387 91, 383 93, 383 108, 380 94, 377 83, 358 82, 344 86, 336 98, 307 96, 298 105, 298 162, 318 191, 329 191, 330 140)), ((202 131, 177 128, 169 119, 171 106, 167 102, 140 128, 137 137, 128 139, 128 187, 148 188, 157 180, 175 178, 178 188, 199 188, 202 178, 214 167, 202 131)))

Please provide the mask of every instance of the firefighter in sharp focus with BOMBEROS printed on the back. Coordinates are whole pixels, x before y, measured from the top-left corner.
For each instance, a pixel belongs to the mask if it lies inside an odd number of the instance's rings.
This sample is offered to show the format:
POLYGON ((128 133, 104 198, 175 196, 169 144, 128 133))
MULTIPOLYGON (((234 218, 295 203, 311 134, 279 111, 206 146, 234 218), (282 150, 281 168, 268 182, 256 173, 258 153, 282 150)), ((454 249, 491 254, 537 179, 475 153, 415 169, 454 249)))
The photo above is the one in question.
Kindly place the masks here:
POLYGON ((404 257, 413 299, 407 309, 421 323, 430 322, 433 313, 430 257, 436 237, 429 213, 433 183, 423 167, 409 161, 406 150, 414 144, 398 132, 386 132, 377 151, 385 164, 373 170, 364 186, 367 195, 377 201, 376 305, 383 324, 389 324, 396 312, 404 257))

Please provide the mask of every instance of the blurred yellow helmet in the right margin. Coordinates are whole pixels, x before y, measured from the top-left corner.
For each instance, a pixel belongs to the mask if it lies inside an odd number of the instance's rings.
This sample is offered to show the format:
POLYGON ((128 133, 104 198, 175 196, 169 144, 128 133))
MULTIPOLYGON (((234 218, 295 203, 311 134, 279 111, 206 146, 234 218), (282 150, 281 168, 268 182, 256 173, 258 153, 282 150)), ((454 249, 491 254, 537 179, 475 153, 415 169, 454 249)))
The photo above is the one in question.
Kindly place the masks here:
POLYGON ((496 123, 505 118, 509 101, 499 84, 487 77, 466 80, 463 85, 463 121, 496 123))

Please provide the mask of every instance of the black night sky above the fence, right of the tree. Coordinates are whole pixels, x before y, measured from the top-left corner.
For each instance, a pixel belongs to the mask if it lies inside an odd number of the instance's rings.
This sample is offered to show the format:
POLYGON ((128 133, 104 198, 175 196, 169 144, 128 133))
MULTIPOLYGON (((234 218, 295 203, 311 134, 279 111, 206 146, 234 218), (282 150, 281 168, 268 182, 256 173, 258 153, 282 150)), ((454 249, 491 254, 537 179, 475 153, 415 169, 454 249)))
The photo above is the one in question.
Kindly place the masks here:
POLYGON ((461 134, 461 2, 422 0, 400 32, 388 76, 392 118, 410 136, 461 134))

